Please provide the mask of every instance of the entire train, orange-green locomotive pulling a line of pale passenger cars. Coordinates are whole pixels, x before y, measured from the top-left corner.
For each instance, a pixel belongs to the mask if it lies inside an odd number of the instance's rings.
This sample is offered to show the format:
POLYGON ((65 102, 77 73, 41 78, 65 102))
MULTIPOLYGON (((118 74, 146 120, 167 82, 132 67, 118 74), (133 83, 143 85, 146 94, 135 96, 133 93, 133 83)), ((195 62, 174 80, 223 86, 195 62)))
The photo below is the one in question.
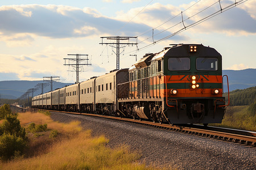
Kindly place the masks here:
POLYGON ((145 54, 129 69, 32 97, 32 108, 207 126, 224 117, 223 78, 216 49, 175 44, 145 54))

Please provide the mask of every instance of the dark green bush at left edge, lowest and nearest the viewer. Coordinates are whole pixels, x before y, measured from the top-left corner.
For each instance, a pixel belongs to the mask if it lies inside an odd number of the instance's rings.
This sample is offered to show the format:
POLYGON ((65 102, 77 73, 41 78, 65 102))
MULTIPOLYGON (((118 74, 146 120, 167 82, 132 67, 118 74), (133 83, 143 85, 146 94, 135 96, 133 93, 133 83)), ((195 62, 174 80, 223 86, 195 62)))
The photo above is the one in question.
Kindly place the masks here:
POLYGON ((8 160, 18 156, 23 153, 26 146, 27 142, 23 138, 4 133, 0 136, 0 157, 2 160, 8 160))

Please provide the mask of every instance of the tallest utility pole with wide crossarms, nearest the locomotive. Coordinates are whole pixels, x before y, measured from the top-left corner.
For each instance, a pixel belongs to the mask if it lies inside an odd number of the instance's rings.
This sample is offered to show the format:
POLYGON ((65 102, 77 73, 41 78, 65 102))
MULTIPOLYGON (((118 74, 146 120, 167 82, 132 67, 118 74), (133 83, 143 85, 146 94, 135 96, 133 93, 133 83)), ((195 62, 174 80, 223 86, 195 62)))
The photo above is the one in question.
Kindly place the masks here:
POLYGON ((122 40, 130 40, 130 39, 136 39, 137 40, 137 37, 119 37, 119 36, 116 36, 116 37, 101 37, 101 45, 103 44, 112 44, 112 45, 117 45, 117 46, 113 46, 114 48, 117 48, 117 52, 115 53, 117 55, 117 70, 119 70, 119 61, 120 61, 120 45, 137 45, 138 43, 132 43, 132 42, 125 42, 125 43, 122 43, 120 41, 122 40), (107 39, 107 40, 117 40, 116 42, 103 42, 104 39, 107 39))

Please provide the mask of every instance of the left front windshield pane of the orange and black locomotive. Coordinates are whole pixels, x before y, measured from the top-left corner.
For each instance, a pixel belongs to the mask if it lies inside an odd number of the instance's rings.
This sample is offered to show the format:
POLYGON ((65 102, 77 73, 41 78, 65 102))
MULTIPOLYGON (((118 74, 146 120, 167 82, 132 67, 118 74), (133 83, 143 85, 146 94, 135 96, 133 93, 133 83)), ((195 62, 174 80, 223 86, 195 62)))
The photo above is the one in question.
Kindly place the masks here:
POLYGON ((169 58, 168 69, 170 71, 190 70, 190 58, 169 58))

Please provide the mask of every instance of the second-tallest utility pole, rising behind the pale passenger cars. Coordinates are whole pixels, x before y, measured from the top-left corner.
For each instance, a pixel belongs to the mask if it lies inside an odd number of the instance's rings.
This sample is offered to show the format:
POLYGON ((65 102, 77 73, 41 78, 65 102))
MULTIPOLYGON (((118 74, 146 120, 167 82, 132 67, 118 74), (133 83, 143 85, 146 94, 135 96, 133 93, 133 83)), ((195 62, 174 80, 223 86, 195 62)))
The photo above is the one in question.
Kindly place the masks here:
MULTIPOLYGON (((64 66, 72 66, 76 71, 76 83, 79 83, 79 72, 81 65, 92 65, 88 63, 88 54, 68 54, 68 56, 76 56, 76 58, 63 58, 65 60, 64 66), (86 58, 81 58, 81 56, 86 56, 86 58), (68 63, 66 61, 68 60, 68 63), (86 63, 81 63, 82 61, 86 61, 86 63), (73 63, 70 63, 73 62, 73 63)), ((68 70, 71 71, 71 70, 68 70)))

